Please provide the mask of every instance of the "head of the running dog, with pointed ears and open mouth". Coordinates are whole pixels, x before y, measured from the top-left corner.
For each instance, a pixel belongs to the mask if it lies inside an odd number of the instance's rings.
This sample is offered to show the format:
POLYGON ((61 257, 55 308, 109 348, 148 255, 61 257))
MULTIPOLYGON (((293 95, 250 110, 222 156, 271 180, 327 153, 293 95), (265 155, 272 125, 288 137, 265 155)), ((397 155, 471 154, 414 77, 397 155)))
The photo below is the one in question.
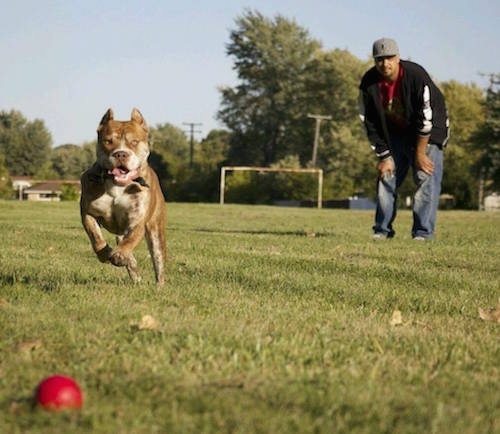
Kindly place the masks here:
POLYGON ((149 156, 148 126, 134 108, 130 121, 115 121, 108 109, 97 128, 97 162, 116 185, 128 185, 140 175, 149 156))

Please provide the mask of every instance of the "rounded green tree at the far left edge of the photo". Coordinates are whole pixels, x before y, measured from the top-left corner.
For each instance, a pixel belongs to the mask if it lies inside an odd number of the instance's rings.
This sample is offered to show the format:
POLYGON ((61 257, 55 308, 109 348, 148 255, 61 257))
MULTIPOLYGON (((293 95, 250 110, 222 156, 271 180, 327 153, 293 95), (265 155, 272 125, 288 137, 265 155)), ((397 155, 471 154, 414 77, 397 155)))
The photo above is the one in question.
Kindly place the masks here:
POLYGON ((28 121, 20 112, 0 112, 0 151, 10 174, 33 176, 47 162, 52 136, 43 121, 28 121))

